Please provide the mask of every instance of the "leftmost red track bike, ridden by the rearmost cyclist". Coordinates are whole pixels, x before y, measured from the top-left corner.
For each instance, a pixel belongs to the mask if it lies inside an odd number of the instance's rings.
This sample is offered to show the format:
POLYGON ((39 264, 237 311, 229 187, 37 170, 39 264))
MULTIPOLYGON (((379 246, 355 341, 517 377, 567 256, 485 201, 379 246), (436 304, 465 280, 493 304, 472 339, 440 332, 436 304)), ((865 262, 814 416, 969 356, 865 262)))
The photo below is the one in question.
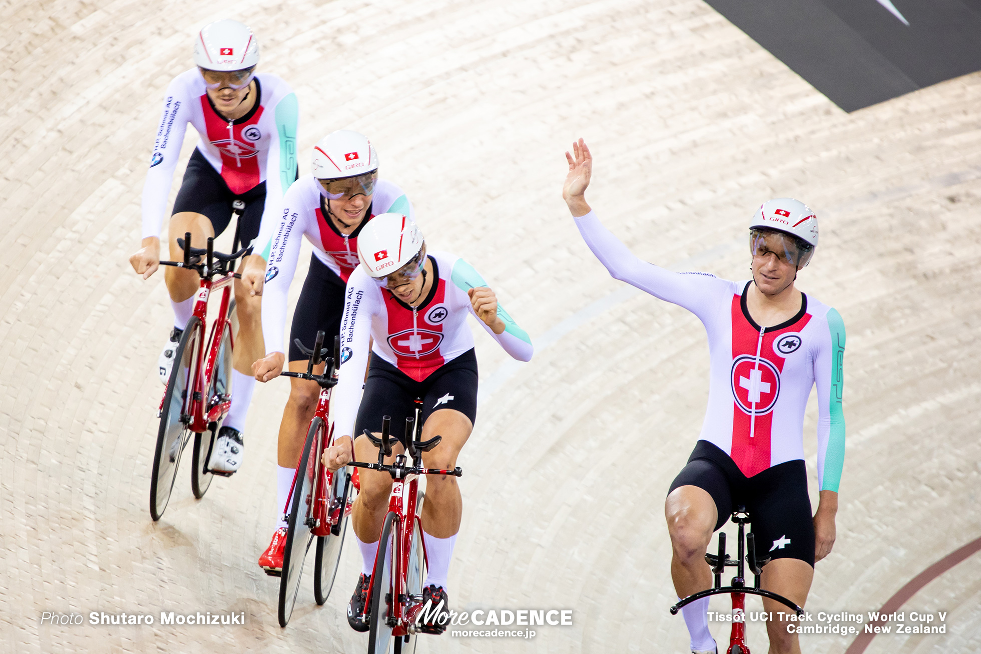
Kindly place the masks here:
POLYGON ((160 401, 160 429, 150 478, 150 516, 154 520, 159 520, 167 509, 181 464, 181 453, 192 434, 190 483, 194 497, 204 497, 212 475, 216 474, 208 468, 208 458, 222 420, 232 406, 232 347, 237 331, 232 282, 239 277, 233 266, 234 260, 248 251, 245 247, 233 254, 216 252, 214 239, 208 239, 204 249, 193 248, 189 233, 178 239, 178 245, 184 251, 184 260, 161 261, 160 264, 193 270, 201 277, 201 287, 194 301, 194 314, 184 327, 175 353, 167 390, 160 401), (205 341, 208 297, 217 291, 222 291, 221 308, 205 341))

